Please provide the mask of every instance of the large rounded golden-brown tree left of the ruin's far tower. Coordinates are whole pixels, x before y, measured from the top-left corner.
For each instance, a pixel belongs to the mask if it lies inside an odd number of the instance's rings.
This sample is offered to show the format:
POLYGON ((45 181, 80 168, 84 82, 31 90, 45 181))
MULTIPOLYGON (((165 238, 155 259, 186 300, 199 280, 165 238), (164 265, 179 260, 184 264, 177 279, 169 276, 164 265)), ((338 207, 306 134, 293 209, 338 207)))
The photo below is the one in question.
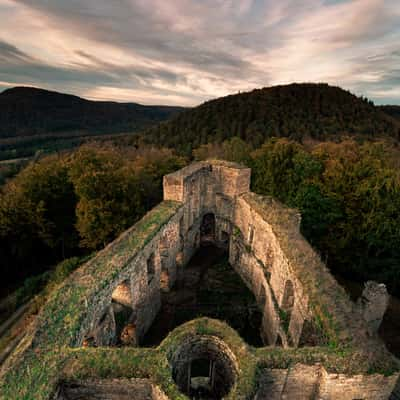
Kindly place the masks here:
POLYGON ((76 227, 83 247, 105 246, 143 215, 143 190, 116 148, 81 147, 69 174, 79 199, 76 227))

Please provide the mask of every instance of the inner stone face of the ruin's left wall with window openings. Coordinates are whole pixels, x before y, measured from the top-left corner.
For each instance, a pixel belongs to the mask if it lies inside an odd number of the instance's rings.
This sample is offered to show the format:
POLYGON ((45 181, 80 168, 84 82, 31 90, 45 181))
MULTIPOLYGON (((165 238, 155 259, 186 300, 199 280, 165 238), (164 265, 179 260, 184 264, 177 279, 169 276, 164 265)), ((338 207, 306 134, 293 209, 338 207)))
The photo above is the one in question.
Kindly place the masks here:
POLYGON ((137 340, 141 340, 160 309, 165 274, 168 275, 168 285, 173 285, 179 268, 182 268, 183 264, 178 265, 177 258, 182 252, 179 221, 183 215, 184 211, 180 209, 138 255, 127 260, 126 266, 114 281, 96 293, 89 304, 87 318, 82 324, 76 345, 82 345, 91 337, 95 345, 104 345, 107 341, 112 344, 109 336, 113 332, 104 329, 102 321, 106 314, 111 313, 111 318, 114 318, 115 308, 110 308, 113 302, 132 310, 127 322, 135 324, 137 340))

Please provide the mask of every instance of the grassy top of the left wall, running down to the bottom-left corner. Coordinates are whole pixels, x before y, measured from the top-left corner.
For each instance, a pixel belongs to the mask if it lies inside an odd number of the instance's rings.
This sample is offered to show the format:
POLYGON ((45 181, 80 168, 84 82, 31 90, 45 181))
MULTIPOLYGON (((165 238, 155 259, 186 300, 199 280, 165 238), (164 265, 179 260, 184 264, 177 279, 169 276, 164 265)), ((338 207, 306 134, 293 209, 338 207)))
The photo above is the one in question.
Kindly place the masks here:
POLYGON ((87 299, 106 289, 115 274, 126 267, 126 260, 136 255, 179 207, 180 204, 175 202, 162 202, 122 234, 107 251, 99 252, 70 279, 52 290, 38 316, 37 326, 31 332, 32 342, 2 379, 0 398, 39 400, 49 397, 58 382, 59 371, 68 360, 67 347, 74 344, 82 327, 87 299), (119 257, 115 257, 117 254, 119 257))

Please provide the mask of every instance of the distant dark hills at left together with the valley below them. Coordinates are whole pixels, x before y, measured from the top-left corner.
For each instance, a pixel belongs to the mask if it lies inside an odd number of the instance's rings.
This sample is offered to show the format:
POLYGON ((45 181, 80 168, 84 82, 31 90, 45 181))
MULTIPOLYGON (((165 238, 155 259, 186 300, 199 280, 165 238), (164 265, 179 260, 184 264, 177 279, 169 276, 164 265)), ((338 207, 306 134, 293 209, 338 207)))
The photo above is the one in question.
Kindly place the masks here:
MULTIPOLYGON (((48 90, 16 87, 0 93, 0 181, 19 160, 139 132, 182 107, 90 101, 48 90)), ((18 163, 17 163, 18 164, 18 163)))

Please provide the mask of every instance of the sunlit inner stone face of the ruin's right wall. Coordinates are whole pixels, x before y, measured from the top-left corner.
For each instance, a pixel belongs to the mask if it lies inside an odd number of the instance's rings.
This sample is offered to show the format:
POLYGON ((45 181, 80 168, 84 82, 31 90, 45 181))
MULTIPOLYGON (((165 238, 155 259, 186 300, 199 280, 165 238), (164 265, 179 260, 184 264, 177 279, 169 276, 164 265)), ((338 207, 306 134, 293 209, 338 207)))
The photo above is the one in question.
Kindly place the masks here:
POLYGON ((275 344, 279 334, 285 345, 296 346, 303 322, 310 317, 307 294, 293 274, 271 225, 243 197, 237 199, 233 223, 239 229, 236 243, 233 243, 238 248, 233 252, 237 262, 233 257, 230 261, 232 265, 236 264, 235 269, 245 276, 244 280, 254 293, 259 293, 260 287, 266 291, 268 301, 263 325, 268 343, 275 344), (293 304, 290 309, 283 310, 288 285, 294 288, 293 304), (279 326, 279 314, 283 311, 289 321, 286 329, 279 326))

